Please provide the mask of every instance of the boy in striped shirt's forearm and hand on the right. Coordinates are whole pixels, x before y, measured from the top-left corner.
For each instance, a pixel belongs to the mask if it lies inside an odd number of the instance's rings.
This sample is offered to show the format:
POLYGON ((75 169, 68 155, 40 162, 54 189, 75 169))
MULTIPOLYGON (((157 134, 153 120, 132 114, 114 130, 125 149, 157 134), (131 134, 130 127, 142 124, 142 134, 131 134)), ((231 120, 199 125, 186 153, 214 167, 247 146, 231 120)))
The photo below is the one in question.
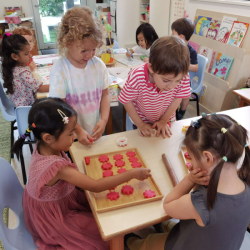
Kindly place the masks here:
POLYGON ((170 117, 173 115, 173 113, 176 111, 176 109, 179 107, 181 103, 181 98, 175 98, 172 103, 169 105, 163 116, 160 118, 159 121, 155 122, 152 126, 152 128, 157 127, 157 134, 156 136, 159 136, 160 133, 162 133, 163 138, 166 138, 166 135, 170 137, 172 135, 172 132, 168 126, 168 122, 170 117))

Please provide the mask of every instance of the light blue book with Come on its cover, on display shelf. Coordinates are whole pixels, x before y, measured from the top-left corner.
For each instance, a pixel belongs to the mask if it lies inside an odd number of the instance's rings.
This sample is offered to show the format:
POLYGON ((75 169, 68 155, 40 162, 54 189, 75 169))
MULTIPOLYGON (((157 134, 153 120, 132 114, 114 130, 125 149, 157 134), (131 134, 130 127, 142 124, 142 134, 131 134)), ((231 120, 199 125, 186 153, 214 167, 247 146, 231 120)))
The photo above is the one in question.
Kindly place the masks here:
POLYGON ((211 74, 221 78, 222 80, 227 80, 233 61, 233 57, 218 52, 214 60, 211 74))

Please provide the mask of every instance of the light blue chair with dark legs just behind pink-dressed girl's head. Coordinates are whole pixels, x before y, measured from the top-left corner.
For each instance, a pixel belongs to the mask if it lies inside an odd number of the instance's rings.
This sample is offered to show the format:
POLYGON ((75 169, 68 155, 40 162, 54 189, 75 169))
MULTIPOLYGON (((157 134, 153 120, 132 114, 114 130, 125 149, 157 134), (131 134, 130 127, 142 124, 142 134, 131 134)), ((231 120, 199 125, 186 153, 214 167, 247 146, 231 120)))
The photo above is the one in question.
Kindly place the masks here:
MULTIPOLYGON (((29 115, 30 109, 31 109, 31 106, 20 106, 16 108, 16 120, 17 120, 19 137, 21 137, 26 132, 26 129, 28 128, 28 115, 29 115)), ((30 138, 26 138, 24 142, 24 144, 29 145, 31 154, 33 153, 33 147, 32 147, 33 143, 36 143, 36 141, 34 138, 34 134, 31 132, 30 138)), ((26 170, 25 170, 25 164, 24 164, 22 151, 23 150, 21 150, 20 161, 21 161, 21 168, 22 168, 22 175, 23 175, 23 183, 25 185, 27 182, 27 177, 26 177, 26 170)))

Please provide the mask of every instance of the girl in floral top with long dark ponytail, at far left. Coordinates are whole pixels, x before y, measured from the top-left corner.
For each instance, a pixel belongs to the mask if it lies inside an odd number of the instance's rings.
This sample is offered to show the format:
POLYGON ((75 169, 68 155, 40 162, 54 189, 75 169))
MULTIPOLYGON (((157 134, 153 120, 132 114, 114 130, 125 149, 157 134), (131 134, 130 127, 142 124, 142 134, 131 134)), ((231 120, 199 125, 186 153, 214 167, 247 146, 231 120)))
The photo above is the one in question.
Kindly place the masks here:
POLYGON ((30 106, 35 101, 35 93, 48 92, 49 85, 34 78, 27 66, 30 61, 30 45, 21 35, 7 33, 2 41, 2 73, 4 88, 15 107, 30 106))

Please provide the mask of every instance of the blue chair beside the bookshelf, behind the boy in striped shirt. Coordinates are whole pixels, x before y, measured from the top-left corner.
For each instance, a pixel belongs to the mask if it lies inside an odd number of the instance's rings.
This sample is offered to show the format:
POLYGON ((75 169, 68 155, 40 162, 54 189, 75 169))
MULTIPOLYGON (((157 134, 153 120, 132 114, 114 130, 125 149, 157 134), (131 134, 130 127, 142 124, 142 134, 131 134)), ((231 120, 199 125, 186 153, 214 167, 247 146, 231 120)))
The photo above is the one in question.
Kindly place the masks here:
POLYGON ((199 107, 199 99, 198 99, 198 93, 200 93, 203 85, 203 79, 205 74, 206 65, 208 62, 208 59, 205 56, 197 55, 198 59, 198 71, 192 72, 189 71, 190 76, 190 82, 191 82, 191 93, 195 96, 195 98, 190 99, 190 101, 196 101, 197 105, 197 116, 200 115, 200 107, 199 107), (196 81, 196 78, 198 78, 198 81, 196 81))

